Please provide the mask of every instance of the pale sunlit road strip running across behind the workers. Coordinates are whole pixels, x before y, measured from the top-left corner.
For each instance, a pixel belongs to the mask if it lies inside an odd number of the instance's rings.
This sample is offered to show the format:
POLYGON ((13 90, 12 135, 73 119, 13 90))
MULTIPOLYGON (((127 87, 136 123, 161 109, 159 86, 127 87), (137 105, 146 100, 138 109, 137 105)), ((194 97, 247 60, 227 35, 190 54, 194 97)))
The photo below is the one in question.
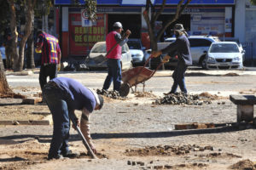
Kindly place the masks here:
MULTIPOLYGON (((253 67, 254 68, 254 67, 253 67)), ((7 73, 9 85, 13 88, 30 87, 39 88, 38 70, 26 76, 15 76, 19 73, 7 73)), ((61 71, 58 77, 71 77, 88 88, 102 88, 107 71, 61 71)), ((185 81, 189 93, 198 94, 208 92, 228 96, 241 91, 255 89, 256 71, 251 68, 248 71, 202 71, 191 68, 186 72, 185 81)), ((161 95, 170 91, 172 87, 172 71, 156 71, 154 77, 146 81, 145 91, 161 95)), ((143 85, 139 84, 137 89, 142 91, 143 85)), ((112 87, 109 89, 111 90, 112 87)))

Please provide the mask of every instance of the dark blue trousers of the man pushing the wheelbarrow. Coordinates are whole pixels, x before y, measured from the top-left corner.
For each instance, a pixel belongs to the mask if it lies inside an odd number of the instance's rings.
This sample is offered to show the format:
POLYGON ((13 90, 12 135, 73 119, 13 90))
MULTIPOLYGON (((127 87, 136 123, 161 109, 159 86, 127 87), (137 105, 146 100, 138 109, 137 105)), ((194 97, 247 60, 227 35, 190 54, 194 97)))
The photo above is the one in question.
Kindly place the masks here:
POLYGON ((185 85, 185 71, 187 70, 188 65, 183 64, 182 62, 178 62, 177 67, 172 73, 173 78, 173 84, 172 84, 172 90, 171 94, 174 94, 177 92, 177 86, 179 86, 180 90, 183 93, 187 93, 187 88, 185 85))

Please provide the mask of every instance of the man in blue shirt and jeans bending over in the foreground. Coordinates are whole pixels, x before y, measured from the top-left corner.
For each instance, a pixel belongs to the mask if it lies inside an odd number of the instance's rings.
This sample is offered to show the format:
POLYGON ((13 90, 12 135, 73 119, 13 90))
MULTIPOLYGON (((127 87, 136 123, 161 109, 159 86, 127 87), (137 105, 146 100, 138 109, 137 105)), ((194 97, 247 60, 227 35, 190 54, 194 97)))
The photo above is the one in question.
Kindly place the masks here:
POLYGON ((52 114, 54 123, 48 160, 60 159, 63 156, 79 156, 68 148, 70 118, 74 117, 73 120, 79 125, 79 119, 74 114, 75 110, 82 111, 81 131, 90 145, 90 149, 96 153, 96 148, 90 138, 89 116, 92 111, 102 109, 102 96, 71 78, 56 77, 44 86, 43 97, 52 114))

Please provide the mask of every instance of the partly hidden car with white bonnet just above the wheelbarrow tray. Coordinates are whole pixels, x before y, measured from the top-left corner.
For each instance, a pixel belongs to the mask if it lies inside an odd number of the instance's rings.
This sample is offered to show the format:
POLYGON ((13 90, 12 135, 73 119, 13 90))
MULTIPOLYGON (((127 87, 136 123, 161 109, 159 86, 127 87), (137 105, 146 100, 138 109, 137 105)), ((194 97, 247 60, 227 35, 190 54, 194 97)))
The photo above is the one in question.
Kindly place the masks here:
POLYGON ((144 53, 145 47, 140 39, 130 38, 127 42, 130 48, 132 63, 134 65, 143 65, 145 62, 144 53))

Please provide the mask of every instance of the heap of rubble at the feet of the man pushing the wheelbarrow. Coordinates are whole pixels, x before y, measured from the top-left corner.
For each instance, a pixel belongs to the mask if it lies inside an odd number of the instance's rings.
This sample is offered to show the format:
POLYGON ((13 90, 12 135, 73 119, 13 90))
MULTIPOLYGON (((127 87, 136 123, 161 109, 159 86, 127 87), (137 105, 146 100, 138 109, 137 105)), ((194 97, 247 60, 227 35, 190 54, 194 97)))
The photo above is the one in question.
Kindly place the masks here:
POLYGON ((152 104, 153 105, 203 105, 203 104, 212 104, 212 96, 206 97, 201 94, 184 94, 184 93, 175 93, 175 94, 166 94, 163 98, 156 99, 152 104))

